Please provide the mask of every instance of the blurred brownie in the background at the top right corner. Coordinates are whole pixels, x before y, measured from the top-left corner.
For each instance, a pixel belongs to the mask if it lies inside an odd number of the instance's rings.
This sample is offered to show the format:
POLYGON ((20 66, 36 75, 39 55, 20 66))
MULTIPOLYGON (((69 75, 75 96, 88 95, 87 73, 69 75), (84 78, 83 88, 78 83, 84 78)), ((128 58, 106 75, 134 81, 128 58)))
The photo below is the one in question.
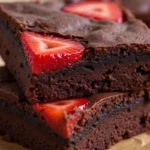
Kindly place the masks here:
POLYGON ((150 27, 150 1, 149 0, 122 0, 137 18, 142 19, 150 27))

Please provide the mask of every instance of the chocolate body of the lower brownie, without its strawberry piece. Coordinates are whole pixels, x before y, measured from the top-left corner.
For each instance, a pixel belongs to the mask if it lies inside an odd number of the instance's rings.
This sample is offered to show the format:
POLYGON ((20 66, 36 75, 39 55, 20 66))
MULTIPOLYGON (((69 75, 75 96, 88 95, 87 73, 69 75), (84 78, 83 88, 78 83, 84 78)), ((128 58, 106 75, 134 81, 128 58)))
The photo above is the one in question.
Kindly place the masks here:
MULTIPOLYGON (((11 77, 6 68, 1 75, 11 77)), ((74 134, 65 139, 39 117, 15 81, 0 82, 0 134, 31 150, 105 150, 150 129, 148 88, 140 93, 101 93, 88 99, 74 134), (10 100, 11 99, 11 100, 10 100), (80 128, 80 130, 79 130, 80 128)))

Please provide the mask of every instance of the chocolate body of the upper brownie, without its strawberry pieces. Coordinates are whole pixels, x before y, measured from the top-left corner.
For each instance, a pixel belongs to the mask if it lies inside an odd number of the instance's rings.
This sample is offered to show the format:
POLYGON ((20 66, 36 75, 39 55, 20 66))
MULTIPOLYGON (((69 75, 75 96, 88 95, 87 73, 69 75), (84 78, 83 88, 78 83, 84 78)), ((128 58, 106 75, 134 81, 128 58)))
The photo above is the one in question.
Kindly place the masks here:
POLYGON ((1 4, 0 53, 30 102, 133 91, 148 84, 150 31, 145 24, 128 11, 126 22, 118 24, 62 12, 64 5, 64 1, 1 4), (78 41, 85 46, 85 55, 68 68, 34 75, 24 56, 23 31, 78 41))

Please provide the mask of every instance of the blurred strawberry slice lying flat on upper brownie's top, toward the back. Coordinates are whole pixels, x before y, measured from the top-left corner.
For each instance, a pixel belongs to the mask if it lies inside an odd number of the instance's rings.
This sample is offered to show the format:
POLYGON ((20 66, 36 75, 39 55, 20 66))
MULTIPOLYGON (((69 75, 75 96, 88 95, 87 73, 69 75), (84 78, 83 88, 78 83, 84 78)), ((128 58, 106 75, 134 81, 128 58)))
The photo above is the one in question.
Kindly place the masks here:
POLYGON ((123 22, 123 13, 113 2, 89 1, 70 4, 63 8, 65 12, 81 15, 96 20, 114 20, 123 22))

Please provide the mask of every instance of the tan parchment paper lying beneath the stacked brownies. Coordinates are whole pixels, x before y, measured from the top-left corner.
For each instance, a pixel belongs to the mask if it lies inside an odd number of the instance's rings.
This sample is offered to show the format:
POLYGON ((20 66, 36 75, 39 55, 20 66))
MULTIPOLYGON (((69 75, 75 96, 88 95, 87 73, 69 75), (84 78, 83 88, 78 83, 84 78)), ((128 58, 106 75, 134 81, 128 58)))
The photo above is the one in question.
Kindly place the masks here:
MULTIPOLYGON (((0 2, 14 2, 14 1, 37 1, 37 0, 0 0, 0 2)), ((0 66, 4 65, 5 63, 0 58, 0 66)), ((15 143, 5 142, 0 138, 0 150, 27 150, 27 149, 15 143)), ((135 136, 129 140, 121 141, 118 144, 114 145, 109 150, 150 150, 150 132, 135 136)))

